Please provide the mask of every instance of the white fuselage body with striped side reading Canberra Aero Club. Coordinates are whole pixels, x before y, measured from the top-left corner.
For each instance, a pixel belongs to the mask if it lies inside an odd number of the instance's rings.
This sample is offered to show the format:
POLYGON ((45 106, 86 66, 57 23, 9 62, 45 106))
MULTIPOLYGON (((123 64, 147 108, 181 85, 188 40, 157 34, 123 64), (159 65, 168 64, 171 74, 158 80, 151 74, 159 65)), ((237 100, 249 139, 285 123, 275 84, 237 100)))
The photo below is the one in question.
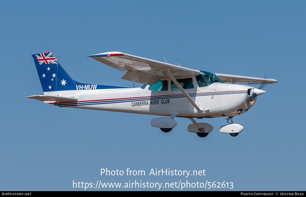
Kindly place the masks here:
POLYGON ((119 88, 100 90, 76 90, 48 92, 58 96, 75 97, 72 102, 47 102, 56 106, 73 107, 90 110, 105 110, 127 113, 141 113, 159 116, 177 117, 222 117, 237 116, 250 109, 250 95, 253 87, 238 84, 214 83, 207 87, 195 86, 186 92, 192 100, 203 109, 204 113, 197 113, 188 99, 180 90, 151 91, 145 88, 119 88), (249 91, 248 91, 249 90, 249 91))

